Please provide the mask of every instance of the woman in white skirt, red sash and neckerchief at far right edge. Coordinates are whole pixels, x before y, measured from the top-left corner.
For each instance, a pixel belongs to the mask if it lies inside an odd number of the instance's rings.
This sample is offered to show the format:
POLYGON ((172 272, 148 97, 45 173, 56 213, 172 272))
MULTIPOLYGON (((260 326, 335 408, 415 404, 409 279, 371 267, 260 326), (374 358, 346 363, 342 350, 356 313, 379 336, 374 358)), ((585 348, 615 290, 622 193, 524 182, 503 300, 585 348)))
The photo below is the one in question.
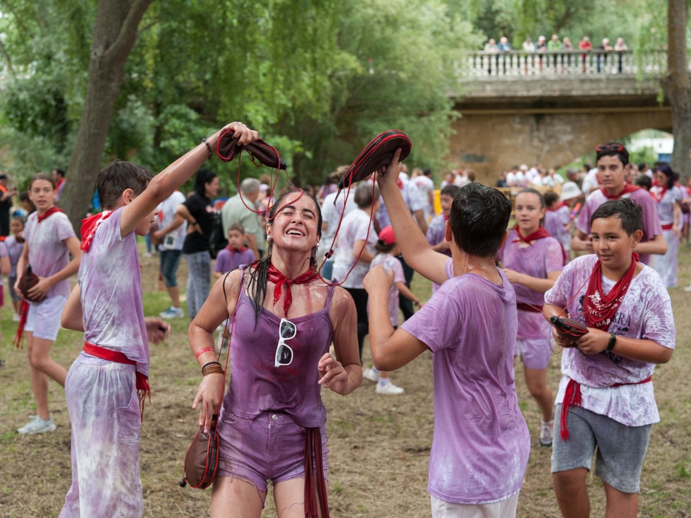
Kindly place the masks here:
POLYGON ((674 171, 668 164, 659 164, 652 169, 655 182, 650 195, 657 205, 657 214, 662 225, 662 235, 667 242, 667 252, 654 256, 654 269, 662 277, 665 286, 676 287, 676 269, 681 237, 681 205, 684 198, 681 187, 674 184, 674 171))

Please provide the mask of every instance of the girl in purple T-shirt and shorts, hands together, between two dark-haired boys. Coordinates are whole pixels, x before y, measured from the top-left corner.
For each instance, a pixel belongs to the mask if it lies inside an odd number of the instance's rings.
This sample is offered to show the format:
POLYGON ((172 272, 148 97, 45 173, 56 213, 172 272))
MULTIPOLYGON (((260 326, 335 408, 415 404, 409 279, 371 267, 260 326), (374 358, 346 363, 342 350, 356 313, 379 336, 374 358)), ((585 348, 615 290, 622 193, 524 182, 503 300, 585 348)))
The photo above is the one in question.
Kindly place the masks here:
POLYGON ((561 243, 541 226, 545 200, 535 189, 523 189, 515 198, 516 226, 499 250, 504 274, 516 292, 520 355, 528 391, 542 412, 540 445, 552 443, 554 399, 547 386, 547 367, 551 358, 549 324, 542 318, 542 300, 564 267, 566 257, 561 243))

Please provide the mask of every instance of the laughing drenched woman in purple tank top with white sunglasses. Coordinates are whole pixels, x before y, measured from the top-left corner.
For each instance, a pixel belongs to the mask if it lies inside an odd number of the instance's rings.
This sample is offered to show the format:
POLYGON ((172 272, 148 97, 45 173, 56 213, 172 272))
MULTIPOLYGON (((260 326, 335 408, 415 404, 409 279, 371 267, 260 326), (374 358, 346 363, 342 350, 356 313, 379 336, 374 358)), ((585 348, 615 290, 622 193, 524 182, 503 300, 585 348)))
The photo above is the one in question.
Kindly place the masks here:
POLYGON ((319 238, 316 200, 301 191, 281 196, 269 209, 267 256, 219 279, 189 327, 191 349, 203 367, 192 407, 200 408, 205 429, 219 414, 213 517, 258 518, 267 480, 281 516, 316 516, 317 504, 328 516, 320 390, 350 394, 362 369, 352 298, 316 273, 319 238), (229 317, 230 385, 221 407, 223 372, 215 363, 212 333, 229 317), (332 342, 336 358, 329 354, 332 342))

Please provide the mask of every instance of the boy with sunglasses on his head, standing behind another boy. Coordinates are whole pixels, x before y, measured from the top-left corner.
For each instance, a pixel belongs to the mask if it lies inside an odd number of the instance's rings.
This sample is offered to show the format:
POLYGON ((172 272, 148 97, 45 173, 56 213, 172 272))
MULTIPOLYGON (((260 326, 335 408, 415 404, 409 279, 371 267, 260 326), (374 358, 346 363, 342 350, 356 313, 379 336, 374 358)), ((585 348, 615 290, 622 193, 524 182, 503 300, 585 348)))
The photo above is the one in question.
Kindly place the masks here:
POLYGON ((607 200, 630 198, 643 209, 643 235, 638 244, 638 254, 641 262, 647 265, 651 253, 664 255, 667 243, 662 235, 662 227, 657 214, 655 202, 647 191, 625 180, 631 169, 629 152, 618 142, 607 142, 595 148, 597 157, 598 180, 601 189, 591 192, 585 199, 583 210, 578 215, 576 236, 571 240, 571 248, 593 253, 590 236, 590 218, 601 204, 607 200))

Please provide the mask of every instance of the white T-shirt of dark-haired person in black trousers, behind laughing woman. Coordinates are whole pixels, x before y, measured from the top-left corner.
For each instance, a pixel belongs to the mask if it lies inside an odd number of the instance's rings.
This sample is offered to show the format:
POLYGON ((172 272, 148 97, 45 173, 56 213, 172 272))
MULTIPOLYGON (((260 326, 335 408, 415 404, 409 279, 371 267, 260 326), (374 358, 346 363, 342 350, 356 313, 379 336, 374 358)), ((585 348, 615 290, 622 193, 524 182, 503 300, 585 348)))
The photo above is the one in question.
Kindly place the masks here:
MULTIPOLYGON (((357 259, 353 255, 354 243, 357 240, 366 240, 366 251, 375 253, 375 243, 379 238, 375 231, 375 225, 370 221, 370 215, 361 209, 356 209, 343 218, 341 223, 341 230, 339 231, 339 243, 334 254, 334 269, 333 276, 335 279, 343 282, 348 270, 352 267, 357 259), (369 234, 368 234, 369 232, 369 234)), ((356 253, 359 250, 356 251, 356 253)), ((359 288, 363 289, 362 280, 370 271, 370 265, 363 260, 357 261, 353 267, 348 279, 343 282, 344 288, 359 288)))

